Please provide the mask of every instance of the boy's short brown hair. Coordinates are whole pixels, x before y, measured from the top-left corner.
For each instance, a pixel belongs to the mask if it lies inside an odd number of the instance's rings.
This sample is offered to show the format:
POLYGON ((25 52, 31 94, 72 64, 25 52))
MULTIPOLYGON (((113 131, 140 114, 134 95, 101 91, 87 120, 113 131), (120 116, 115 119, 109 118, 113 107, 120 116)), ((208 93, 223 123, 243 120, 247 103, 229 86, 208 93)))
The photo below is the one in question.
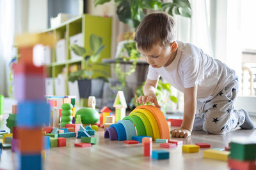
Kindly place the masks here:
POLYGON ((149 51, 153 45, 159 43, 168 46, 175 40, 175 22, 164 12, 150 13, 143 18, 138 26, 134 41, 138 48, 149 51))

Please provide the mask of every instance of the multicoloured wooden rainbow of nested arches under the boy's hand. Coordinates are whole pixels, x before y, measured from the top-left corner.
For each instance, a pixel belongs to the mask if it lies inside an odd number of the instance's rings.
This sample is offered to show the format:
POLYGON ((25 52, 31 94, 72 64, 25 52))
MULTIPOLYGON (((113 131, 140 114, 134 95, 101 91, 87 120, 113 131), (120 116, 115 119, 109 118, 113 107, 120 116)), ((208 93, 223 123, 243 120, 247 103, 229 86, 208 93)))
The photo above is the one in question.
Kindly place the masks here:
POLYGON ((161 110, 152 105, 135 108, 128 117, 106 128, 104 138, 131 140, 132 136, 150 136, 152 139, 170 139, 167 120, 161 110))

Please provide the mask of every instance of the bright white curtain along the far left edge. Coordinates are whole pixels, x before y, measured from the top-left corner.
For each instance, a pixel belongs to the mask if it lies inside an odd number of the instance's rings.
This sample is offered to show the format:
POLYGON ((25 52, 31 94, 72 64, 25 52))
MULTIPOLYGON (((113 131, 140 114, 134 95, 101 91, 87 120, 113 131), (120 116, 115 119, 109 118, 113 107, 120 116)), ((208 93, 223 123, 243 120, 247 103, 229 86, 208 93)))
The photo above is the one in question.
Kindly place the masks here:
POLYGON ((14 0, 0 0, 0 94, 8 96, 8 62, 12 58, 14 0))

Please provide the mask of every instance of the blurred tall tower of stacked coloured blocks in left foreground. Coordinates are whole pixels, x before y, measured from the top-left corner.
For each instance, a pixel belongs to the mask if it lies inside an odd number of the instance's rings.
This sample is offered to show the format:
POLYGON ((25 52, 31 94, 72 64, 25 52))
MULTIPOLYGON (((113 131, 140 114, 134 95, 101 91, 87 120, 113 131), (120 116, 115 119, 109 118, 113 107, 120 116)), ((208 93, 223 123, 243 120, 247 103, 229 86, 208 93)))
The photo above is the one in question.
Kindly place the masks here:
POLYGON ((14 67, 14 95, 18 101, 17 169, 42 169, 42 126, 49 124, 50 106, 45 101, 43 66, 33 63, 33 47, 37 44, 54 45, 49 34, 24 34, 15 38, 19 60, 14 67))

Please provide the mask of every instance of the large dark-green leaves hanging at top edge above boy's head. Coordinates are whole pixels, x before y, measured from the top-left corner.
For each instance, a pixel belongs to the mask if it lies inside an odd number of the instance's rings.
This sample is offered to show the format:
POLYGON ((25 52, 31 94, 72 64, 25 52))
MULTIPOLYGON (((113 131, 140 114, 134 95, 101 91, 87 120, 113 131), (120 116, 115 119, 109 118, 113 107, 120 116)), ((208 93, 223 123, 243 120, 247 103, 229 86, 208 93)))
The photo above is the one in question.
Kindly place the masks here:
MULTIPOLYGON (((111 0, 94 0, 95 6, 108 3, 111 0)), ((116 14, 121 22, 136 28, 145 17, 144 9, 166 11, 173 16, 191 17, 191 6, 188 0, 173 0, 163 3, 160 0, 115 0, 116 14)))

